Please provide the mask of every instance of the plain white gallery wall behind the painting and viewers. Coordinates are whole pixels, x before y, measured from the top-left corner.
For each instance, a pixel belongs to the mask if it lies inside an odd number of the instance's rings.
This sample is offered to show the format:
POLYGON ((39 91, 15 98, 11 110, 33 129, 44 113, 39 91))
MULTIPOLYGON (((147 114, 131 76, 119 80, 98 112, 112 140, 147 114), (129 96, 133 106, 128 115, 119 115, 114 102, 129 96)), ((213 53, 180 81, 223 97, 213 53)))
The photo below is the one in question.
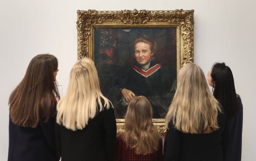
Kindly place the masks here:
POLYGON ((244 105, 242 160, 256 157, 255 0, 0 0, 0 161, 8 154, 8 97, 30 60, 50 53, 59 61, 58 83, 66 94, 77 60, 76 10, 194 10, 194 62, 205 75, 226 62, 244 105))

